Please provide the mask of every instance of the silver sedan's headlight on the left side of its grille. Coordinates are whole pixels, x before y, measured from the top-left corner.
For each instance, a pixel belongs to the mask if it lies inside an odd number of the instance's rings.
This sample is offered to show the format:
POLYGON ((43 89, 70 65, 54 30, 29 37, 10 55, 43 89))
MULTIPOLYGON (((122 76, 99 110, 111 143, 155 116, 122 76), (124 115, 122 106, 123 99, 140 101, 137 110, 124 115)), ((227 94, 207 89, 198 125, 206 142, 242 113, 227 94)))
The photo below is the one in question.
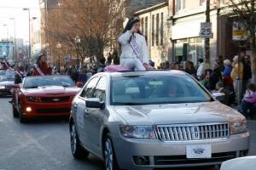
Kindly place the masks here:
POLYGON ((126 138, 156 139, 152 126, 121 126, 120 133, 126 138))

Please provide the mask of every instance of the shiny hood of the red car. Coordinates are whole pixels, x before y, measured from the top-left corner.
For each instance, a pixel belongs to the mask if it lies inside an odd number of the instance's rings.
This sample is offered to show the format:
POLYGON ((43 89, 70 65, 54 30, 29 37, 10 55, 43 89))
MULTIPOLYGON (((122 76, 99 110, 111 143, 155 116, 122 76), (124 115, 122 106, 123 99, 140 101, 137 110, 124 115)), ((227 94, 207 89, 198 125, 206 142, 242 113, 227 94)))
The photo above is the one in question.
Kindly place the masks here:
POLYGON ((62 86, 45 86, 38 88, 22 88, 21 92, 26 96, 49 96, 49 95, 75 95, 78 94, 81 88, 62 86))

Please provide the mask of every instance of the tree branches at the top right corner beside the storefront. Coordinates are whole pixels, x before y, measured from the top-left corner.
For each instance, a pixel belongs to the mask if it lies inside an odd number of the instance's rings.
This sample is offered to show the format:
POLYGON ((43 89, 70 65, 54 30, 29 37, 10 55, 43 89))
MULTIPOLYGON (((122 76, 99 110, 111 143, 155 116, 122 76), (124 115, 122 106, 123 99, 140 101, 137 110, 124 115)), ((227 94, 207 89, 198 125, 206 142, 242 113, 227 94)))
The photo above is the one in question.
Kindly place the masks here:
POLYGON ((230 0, 230 8, 232 8, 234 17, 236 17, 247 30, 247 42, 252 50, 252 72, 254 83, 256 83, 255 3, 256 0, 230 0))

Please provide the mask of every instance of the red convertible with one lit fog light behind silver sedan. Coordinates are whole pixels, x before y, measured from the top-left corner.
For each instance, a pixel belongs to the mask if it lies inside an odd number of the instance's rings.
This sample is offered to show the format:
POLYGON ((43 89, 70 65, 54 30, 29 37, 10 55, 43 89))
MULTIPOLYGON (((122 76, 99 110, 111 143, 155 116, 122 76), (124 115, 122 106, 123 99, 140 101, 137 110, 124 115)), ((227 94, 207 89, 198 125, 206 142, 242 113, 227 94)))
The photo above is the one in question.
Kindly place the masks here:
POLYGON ((20 117, 20 122, 37 116, 69 116, 79 91, 67 76, 26 77, 15 85, 13 116, 20 117))

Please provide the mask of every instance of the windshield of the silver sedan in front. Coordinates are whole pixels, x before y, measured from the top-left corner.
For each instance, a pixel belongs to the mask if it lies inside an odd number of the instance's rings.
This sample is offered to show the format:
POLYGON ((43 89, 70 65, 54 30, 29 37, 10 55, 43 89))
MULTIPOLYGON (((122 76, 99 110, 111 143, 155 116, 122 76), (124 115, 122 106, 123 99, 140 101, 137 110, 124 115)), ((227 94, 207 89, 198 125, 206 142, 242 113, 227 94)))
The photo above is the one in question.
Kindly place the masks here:
POLYGON ((115 77, 112 105, 154 105, 211 101, 212 97, 189 76, 115 77))

